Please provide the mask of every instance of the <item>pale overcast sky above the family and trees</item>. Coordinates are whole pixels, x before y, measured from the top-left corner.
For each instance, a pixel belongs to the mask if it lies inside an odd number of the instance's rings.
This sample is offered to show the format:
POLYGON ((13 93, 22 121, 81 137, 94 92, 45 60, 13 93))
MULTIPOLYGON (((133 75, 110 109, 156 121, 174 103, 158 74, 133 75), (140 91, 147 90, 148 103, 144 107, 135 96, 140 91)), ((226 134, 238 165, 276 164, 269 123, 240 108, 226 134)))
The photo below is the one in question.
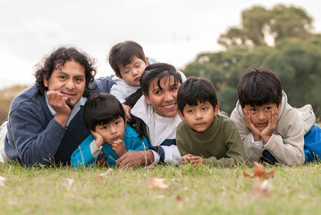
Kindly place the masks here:
POLYGON ((200 52, 220 50, 219 35, 241 24, 242 10, 275 4, 305 9, 321 32, 316 0, 0 0, 0 89, 33 83, 33 65, 62 45, 96 58, 97 77, 113 73, 107 53, 126 39, 182 68, 200 52))

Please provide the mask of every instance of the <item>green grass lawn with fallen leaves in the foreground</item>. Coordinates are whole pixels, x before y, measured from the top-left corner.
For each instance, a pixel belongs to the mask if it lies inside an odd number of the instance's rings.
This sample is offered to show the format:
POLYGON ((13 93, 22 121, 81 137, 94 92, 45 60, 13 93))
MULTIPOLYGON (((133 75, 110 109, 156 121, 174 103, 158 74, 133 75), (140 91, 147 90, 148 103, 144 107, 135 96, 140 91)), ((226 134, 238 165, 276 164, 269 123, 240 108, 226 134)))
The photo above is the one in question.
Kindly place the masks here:
POLYGON ((23 168, 5 164, 1 214, 317 214, 321 166, 275 168, 270 197, 250 197, 252 168, 23 168), (101 176, 103 174, 103 176, 101 176), (148 189, 151 177, 168 189, 148 189))

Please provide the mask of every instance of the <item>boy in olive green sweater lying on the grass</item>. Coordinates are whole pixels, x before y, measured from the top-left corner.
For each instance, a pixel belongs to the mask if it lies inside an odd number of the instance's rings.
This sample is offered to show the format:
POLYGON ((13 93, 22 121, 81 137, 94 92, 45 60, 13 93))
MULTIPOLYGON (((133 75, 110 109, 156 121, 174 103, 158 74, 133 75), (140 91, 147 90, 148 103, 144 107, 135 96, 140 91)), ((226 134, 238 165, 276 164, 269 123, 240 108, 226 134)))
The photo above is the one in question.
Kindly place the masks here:
POLYGON ((234 167, 245 162, 238 130, 232 120, 218 113, 220 105, 211 82, 188 78, 178 90, 177 102, 182 122, 176 144, 183 164, 234 167))

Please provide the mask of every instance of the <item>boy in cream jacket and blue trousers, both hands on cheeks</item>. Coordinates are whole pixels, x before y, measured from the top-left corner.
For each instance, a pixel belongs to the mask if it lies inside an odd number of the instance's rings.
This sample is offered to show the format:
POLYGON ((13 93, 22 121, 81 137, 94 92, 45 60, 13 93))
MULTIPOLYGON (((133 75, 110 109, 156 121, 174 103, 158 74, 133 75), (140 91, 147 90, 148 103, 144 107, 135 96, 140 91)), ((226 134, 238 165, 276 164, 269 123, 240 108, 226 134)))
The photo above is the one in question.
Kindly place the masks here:
POLYGON ((321 130, 314 125, 312 107, 291 107, 273 71, 249 67, 238 84, 238 97, 231 119, 251 163, 291 166, 318 159, 321 130))

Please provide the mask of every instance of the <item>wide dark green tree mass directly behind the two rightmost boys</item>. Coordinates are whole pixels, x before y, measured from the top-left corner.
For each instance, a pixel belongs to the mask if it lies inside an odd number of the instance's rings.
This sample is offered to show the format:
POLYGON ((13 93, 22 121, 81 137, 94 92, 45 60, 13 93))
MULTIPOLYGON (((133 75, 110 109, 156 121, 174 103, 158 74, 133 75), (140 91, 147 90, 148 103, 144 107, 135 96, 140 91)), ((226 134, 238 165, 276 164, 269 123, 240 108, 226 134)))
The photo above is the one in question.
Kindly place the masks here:
POLYGON ((275 47, 233 49, 203 53, 183 73, 205 77, 217 90, 221 109, 231 113, 237 100, 237 83, 249 64, 266 65, 279 76, 293 107, 311 104, 321 116, 321 36, 310 39, 283 39, 275 47))

